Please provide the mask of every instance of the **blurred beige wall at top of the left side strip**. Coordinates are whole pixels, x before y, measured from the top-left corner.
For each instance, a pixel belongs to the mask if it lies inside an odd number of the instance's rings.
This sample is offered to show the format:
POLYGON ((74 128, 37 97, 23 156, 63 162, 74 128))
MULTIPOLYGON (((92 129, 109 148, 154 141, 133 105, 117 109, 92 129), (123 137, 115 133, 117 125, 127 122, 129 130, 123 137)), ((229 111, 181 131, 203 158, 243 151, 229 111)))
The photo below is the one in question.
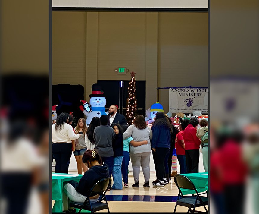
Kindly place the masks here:
POLYGON ((1 1, 1 72, 48 74, 48 6, 48 1, 1 1))

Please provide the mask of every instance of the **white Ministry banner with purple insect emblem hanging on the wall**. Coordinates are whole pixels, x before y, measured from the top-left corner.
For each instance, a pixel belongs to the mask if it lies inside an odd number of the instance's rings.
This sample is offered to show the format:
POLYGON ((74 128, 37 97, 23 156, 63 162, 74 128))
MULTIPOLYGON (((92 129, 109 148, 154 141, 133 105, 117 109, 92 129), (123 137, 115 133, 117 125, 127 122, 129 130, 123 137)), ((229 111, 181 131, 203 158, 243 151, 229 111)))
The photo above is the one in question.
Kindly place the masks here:
POLYGON ((169 88, 169 112, 208 113, 208 87, 169 88))

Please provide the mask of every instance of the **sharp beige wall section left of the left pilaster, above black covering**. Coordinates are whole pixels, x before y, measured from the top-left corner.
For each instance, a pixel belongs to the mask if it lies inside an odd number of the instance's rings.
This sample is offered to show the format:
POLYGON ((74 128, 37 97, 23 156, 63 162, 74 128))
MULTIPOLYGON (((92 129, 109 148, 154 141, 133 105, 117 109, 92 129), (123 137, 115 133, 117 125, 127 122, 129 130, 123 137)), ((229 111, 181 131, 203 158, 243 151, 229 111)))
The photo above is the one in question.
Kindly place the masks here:
POLYGON ((86 84, 86 13, 52 13, 52 83, 86 84))

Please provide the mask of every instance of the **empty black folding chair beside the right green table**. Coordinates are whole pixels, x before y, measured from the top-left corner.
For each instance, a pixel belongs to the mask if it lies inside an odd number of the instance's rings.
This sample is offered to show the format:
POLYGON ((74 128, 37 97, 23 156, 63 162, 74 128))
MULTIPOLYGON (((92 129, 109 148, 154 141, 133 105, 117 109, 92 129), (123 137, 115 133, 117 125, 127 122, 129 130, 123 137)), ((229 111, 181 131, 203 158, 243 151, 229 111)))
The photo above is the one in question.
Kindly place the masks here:
POLYGON ((174 177, 174 182, 179 190, 179 194, 178 194, 178 198, 177 198, 173 213, 175 213, 177 205, 188 207, 187 213, 189 213, 190 211, 192 213, 194 212, 208 213, 208 210, 205 207, 205 205, 208 205, 208 197, 200 196, 201 194, 198 193, 196 187, 194 186, 194 184, 189 178, 187 178, 184 175, 176 175, 174 177), (187 189, 187 190, 194 190, 196 195, 192 194, 192 196, 184 196, 180 188, 187 189), (206 212, 195 210, 195 208, 200 206, 203 206, 206 212))

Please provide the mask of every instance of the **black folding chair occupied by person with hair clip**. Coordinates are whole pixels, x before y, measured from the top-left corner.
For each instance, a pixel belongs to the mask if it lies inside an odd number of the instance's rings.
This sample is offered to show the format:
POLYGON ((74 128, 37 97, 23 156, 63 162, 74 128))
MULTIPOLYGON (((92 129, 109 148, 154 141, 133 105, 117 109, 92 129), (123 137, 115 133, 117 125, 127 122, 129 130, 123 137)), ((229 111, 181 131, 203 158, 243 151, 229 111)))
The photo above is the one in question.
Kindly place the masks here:
POLYGON ((82 209, 88 210, 91 212, 108 209, 108 212, 110 212, 109 206, 108 206, 108 203, 106 200, 106 196, 105 196, 105 193, 107 192, 108 187, 110 185, 111 185, 111 178, 104 178, 104 179, 98 181, 92 187, 91 193, 89 194, 89 196, 86 197, 86 200, 84 203, 77 203, 77 202, 72 201, 69 203, 69 206, 80 209, 79 212, 81 212, 82 209), (96 194, 100 195, 100 199, 95 203, 91 203, 89 197, 92 195, 96 195, 96 194), (103 200, 105 200, 105 203, 101 202, 103 200))

